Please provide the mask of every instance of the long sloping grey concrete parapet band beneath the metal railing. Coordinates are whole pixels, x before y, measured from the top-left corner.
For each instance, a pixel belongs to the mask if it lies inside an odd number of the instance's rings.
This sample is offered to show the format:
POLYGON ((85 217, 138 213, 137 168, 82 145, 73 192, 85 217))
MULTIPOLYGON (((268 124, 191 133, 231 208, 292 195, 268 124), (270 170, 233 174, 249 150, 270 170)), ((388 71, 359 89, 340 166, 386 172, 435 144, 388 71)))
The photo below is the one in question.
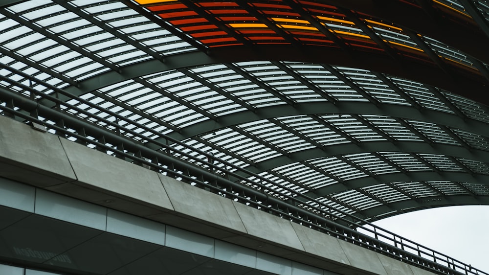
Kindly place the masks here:
POLYGON ((0 177, 338 274, 431 274, 3 116, 0 177))

